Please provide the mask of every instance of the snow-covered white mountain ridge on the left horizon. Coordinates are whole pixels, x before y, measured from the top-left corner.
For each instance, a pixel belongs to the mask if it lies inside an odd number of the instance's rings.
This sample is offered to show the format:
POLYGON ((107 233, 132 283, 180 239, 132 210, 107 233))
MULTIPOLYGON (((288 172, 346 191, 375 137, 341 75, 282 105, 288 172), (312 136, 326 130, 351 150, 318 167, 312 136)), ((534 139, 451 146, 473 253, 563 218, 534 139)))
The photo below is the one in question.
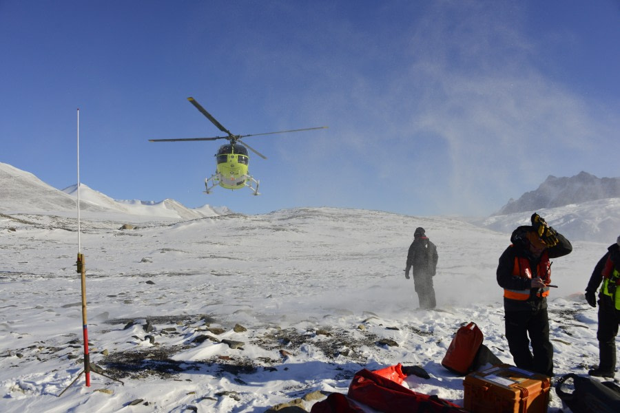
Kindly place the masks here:
MULTIPOLYGON (((72 212, 76 211, 76 197, 76 184, 61 191, 30 172, 0 162, 0 213, 72 212)), ((114 200, 85 184, 80 184, 80 209, 186 220, 229 212, 225 207, 213 208, 209 205, 189 209, 169 199, 161 202, 114 200)))

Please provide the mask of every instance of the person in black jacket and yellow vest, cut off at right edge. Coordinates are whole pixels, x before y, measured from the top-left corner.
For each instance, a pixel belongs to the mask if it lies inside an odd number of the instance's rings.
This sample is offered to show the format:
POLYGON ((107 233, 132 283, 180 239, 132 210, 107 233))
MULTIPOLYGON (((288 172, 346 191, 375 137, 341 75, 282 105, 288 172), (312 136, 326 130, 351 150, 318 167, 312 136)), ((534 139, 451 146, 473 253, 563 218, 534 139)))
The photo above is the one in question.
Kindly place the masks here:
POLYGON ((607 253, 592 271, 586 287, 586 301, 597 306, 596 291, 603 282, 599 293, 599 367, 588 372, 590 376, 614 377, 616 368, 616 336, 620 326, 620 237, 607 248, 607 253))

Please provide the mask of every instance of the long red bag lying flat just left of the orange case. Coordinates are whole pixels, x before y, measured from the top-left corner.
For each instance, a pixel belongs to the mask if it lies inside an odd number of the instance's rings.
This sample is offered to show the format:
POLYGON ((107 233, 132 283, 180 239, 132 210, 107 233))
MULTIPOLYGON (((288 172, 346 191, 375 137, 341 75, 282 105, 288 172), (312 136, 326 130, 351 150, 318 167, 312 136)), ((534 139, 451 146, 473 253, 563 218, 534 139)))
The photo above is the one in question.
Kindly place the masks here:
POLYGON ((366 369, 355 373, 347 395, 384 413, 467 413, 454 403, 414 392, 366 369))

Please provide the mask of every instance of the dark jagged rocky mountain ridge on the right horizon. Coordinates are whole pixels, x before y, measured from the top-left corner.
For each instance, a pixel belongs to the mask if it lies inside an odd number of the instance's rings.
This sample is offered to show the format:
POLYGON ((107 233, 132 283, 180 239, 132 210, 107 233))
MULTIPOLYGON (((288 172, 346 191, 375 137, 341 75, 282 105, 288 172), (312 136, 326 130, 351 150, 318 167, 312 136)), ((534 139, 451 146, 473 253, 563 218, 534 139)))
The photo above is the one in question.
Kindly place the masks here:
POLYGON ((535 191, 510 199, 493 215, 537 211, 538 209, 565 207, 606 198, 620 198, 620 178, 597 178, 581 171, 570 178, 548 178, 535 191))

